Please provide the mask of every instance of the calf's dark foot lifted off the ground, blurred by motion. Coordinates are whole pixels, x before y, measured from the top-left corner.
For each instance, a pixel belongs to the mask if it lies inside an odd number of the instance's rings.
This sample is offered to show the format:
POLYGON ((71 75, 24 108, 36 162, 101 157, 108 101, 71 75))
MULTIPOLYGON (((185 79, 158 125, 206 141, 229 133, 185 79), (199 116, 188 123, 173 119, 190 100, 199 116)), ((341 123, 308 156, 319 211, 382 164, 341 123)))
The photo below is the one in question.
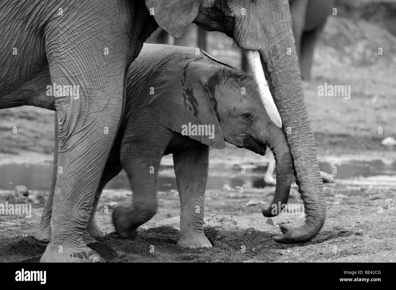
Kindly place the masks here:
POLYGON ((133 216, 128 207, 116 207, 113 211, 113 224, 117 234, 123 239, 133 239, 137 236, 136 226, 133 226, 133 216))

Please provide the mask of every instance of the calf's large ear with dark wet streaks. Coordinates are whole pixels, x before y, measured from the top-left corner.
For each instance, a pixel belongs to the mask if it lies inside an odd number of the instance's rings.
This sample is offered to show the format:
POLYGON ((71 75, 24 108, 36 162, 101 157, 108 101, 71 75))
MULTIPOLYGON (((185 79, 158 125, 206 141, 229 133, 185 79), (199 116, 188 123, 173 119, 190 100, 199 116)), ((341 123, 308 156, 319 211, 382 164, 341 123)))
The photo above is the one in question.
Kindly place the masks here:
POLYGON ((147 95, 154 118, 162 126, 213 148, 225 147, 209 91, 200 82, 199 62, 177 55, 154 70, 147 95))

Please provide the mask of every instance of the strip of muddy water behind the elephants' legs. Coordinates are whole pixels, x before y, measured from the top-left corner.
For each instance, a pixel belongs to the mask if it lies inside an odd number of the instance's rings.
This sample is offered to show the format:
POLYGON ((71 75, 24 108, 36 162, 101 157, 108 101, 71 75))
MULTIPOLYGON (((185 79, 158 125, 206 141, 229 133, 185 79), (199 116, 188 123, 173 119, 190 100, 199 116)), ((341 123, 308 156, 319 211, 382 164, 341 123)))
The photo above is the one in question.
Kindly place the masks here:
MULTIPOLYGON (((359 161, 349 160, 340 163, 321 162, 320 170, 333 173, 337 167, 336 179, 350 179, 355 177, 369 176, 395 176, 395 160, 372 160, 359 161)), ((0 166, 0 189, 13 190, 16 185, 25 185, 32 190, 48 190, 51 182, 52 165, 21 165, 7 164, 0 166)), ((263 176, 267 165, 246 166, 246 173, 242 173, 240 165, 224 163, 211 164, 207 189, 222 189, 224 184, 230 187, 244 186, 247 188, 263 188, 265 182, 263 176)), ((396 180, 396 179, 395 179, 396 180)), ((177 189, 175 175, 172 166, 161 165, 158 178, 158 190, 167 191, 177 189)), ((106 189, 129 189, 128 177, 125 171, 113 178, 106 189)))

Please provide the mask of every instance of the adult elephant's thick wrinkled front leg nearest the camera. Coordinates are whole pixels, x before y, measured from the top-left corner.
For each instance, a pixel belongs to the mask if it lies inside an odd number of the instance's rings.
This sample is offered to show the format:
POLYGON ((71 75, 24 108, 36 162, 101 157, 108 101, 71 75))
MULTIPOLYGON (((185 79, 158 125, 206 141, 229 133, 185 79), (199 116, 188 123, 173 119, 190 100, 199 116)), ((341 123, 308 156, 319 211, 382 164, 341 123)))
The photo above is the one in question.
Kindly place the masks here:
MULTIPOLYGON (((64 80, 54 78, 53 82, 64 80)), ((59 123, 59 154, 51 216, 51 242, 41 262, 98 262, 100 256, 84 239, 93 198, 107 156, 118 130, 124 76, 113 93, 91 92, 78 99, 59 97, 55 101, 59 123), (103 106, 101 98, 108 100, 103 106), (92 98, 92 99, 91 99, 92 98), (95 99, 96 101, 94 101, 95 99)), ((113 87, 114 88, 114 87, 113 87)))

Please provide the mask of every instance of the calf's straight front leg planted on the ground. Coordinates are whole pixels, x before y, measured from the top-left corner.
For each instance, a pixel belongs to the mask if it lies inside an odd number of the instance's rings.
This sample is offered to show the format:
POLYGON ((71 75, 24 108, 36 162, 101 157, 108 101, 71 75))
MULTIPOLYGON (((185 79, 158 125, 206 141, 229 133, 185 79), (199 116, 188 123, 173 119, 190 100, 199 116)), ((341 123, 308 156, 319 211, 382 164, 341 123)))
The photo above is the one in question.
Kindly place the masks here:
POLYGON ((211 248, 204 235, 204 195, 208 177, 209 147, 196 142, 194 148, 173 154, 181 205, 180 239, 182 248, 211 248))

